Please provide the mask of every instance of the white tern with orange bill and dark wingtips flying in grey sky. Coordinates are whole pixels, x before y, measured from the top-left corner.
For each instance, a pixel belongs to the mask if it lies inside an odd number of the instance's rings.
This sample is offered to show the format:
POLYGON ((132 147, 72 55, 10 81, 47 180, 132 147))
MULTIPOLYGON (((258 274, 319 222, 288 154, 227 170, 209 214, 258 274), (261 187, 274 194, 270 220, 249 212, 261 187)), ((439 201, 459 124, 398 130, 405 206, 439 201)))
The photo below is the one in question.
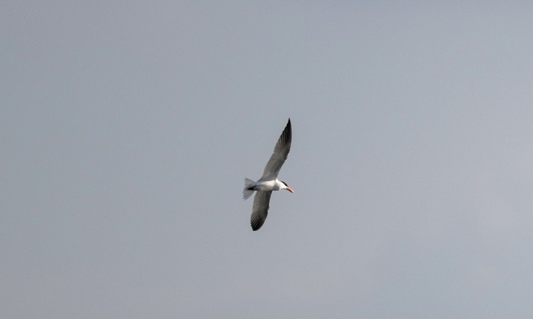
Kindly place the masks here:
POLYGON ((243 199, 248 199, 254 191, 257 192, 253 198, 252 216, 250 218, 250 224, 254 231, 260 229, 265 223, 268 209, 270 209, 268 203, 270 202, 272 191, 287 189, 289 192, 294 193, 293 189, 288 187, 287 183, 278 180, 278 173, 280 172, 281 166, 289 155, 292 135, 289 119, 285 130, 281 133, 274 147, 274 152, 270 156, 270 160, 268 160, 265 166, 263 176, 257 182, 248 178, 244 179, 243 199))

